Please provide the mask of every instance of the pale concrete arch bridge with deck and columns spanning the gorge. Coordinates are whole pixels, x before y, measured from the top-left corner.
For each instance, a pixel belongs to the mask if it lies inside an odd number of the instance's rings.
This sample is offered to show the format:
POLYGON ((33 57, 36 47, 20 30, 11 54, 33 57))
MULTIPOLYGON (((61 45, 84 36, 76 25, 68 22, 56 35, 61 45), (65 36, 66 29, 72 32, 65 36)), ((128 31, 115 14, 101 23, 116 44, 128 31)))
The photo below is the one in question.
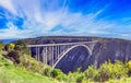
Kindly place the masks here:
POLYGON ((96 43, 97 40, 64 44, 28 45, 28 47, 31 49, 31 52, 35 55, 38 61, 41 61, 55 68, 68 52, 80 46, 84 47, 87 50, 88 55, 92 56, 93 48, 96 43))

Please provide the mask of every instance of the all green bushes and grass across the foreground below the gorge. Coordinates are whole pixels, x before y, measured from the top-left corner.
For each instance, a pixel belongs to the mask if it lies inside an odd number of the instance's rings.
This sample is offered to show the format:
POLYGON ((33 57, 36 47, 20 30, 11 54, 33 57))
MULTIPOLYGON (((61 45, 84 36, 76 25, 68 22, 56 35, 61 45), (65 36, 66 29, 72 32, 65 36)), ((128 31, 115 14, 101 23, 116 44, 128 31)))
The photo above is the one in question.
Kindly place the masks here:
POLYGON ((108 60, 99 68, 90 66, 84 72, 79 68, 64 74, 32 58, 22 40, 0 43, 0 83, 128 83, 130 76, 131 61, 111 63, 108 60))

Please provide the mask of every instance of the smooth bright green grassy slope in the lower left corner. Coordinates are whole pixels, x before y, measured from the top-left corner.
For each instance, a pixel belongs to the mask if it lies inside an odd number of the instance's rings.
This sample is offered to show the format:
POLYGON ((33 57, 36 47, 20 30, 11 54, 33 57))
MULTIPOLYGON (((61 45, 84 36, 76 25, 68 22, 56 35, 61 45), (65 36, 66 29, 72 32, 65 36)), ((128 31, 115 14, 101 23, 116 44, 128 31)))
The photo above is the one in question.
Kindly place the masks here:
POLYGON ((55 83, 55 81, 16 68, 0 56, 0 83, 55 83))

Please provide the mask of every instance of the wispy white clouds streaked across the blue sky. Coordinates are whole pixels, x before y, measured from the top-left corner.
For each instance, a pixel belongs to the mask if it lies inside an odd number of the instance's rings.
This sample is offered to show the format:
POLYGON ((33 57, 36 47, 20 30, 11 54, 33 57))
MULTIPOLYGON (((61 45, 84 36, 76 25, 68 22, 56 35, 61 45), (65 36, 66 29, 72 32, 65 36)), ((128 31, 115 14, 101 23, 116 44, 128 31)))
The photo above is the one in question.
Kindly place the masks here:
MULTIPOLYGON (((103 13, 107 7, 95 13, 83 14, 82 12, 73 13, 69 11, 66 7, 66 0, 63 1, 63 5, 57 10, 53 10, 53 7, 58 7, 58 3, 52 3, 49 10, 43 9, 41 0, 0 0, 0 5, 10 10, 15 15, 17 13, 17 16, 24 19, 23 29, 20 29, 12 22, 7 24, 8 28, 0 29, 1 39, 45 35, 130 36, 130 34, 124 34, 123 31, 119 33, 116 28, 129 28, 131 25, 123 26, 122 24, 110 23, 105 20, 96 20, 97 15, 103 13), (51 29, 59 25, 61 28, 51 32, 51 29)), ((9 15, 7 17, 9 20, 9 15)))

